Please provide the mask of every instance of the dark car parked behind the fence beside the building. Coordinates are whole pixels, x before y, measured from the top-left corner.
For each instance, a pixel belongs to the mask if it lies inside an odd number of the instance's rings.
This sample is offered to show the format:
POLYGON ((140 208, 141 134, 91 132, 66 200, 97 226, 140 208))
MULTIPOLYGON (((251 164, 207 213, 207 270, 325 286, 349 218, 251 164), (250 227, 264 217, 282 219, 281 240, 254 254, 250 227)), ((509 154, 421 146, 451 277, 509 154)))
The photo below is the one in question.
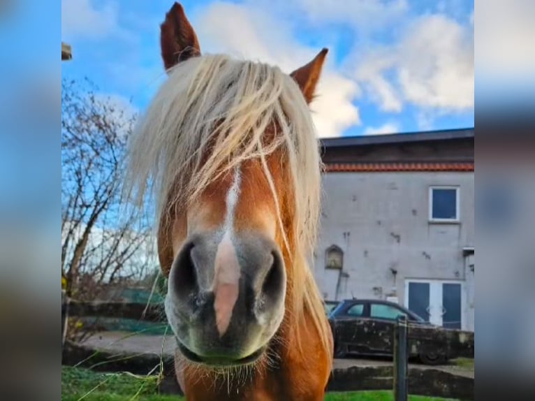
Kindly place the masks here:
MULTIPOLYGON (((344 300, 328 315, 335 340, 335 357, 392 356, 393 335, 397 317, 404 315, 411 324, 432 326, 416 313, 386 300, 344 300)), ((441 347, 409 340, 409 356, 428 365, 446 362, 448 355, 441 347)))

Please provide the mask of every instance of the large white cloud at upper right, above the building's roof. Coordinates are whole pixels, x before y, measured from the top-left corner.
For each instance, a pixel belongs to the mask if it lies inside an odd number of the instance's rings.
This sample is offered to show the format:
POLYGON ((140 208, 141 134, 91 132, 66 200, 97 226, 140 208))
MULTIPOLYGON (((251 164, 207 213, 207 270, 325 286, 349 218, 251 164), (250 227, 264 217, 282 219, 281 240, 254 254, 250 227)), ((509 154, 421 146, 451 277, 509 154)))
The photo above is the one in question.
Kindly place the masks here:
POLYGON ((464 111, 474 107, 474 52, 467 29, 444 15, 425 15, 407 25, 397 43, 354 54, 354 76, 384 111, 403 103, 464 111))

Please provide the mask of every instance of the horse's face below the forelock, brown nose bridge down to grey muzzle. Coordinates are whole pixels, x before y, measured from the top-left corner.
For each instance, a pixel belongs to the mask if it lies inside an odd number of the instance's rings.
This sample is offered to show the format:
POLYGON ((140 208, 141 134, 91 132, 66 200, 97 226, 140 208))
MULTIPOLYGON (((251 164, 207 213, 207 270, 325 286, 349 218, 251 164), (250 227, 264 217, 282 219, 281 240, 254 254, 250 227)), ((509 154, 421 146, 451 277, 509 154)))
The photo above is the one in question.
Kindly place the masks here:
MULTIPOLYGON (((281 182, 280 173, 272 175, 281 182)), ((260 163, 249 162, 207 188, 185 221, 175 221, 166 313, 186 358, 251 363, 277 332, 286 270, 276 212, 260 163)))

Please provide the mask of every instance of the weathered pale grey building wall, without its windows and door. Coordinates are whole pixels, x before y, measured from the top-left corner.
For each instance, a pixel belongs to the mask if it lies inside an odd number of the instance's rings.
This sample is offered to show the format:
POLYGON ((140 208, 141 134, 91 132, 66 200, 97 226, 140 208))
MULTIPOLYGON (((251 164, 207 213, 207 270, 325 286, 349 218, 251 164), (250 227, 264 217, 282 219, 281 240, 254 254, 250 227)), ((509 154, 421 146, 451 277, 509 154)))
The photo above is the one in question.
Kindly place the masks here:
MULTIPOLYGON (((474 246, 474 173, 328 173, 323 192, 314 274, 325 299, 335 300, 338 280, 338 300, 397 296, 404 304, 405 279, 467 279, 462 248, 474 246), (430 223, 432 185, 460 187, 460 223, 430 223), (325 269, 332 245, 344 251, 340 279, 339 271, 325 269)), ((464 285, 467 329, 472 294, 473 286, 464 285)))

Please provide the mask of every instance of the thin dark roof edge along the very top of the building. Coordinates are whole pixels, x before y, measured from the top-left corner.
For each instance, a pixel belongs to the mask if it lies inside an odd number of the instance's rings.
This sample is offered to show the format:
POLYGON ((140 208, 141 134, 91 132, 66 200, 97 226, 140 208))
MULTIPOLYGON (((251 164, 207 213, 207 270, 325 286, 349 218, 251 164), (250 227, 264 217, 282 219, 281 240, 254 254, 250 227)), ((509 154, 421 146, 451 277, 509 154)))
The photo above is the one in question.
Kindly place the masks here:
POLYGON ((474 138, 474 129, 448 129, 441 131, 420 131, 407 133, 389 133, 386 135, 341 136, 338 138, 321 138, 324 147, 380 145, 393 143, 432 142, 437 140, 455 140, 474 138))

